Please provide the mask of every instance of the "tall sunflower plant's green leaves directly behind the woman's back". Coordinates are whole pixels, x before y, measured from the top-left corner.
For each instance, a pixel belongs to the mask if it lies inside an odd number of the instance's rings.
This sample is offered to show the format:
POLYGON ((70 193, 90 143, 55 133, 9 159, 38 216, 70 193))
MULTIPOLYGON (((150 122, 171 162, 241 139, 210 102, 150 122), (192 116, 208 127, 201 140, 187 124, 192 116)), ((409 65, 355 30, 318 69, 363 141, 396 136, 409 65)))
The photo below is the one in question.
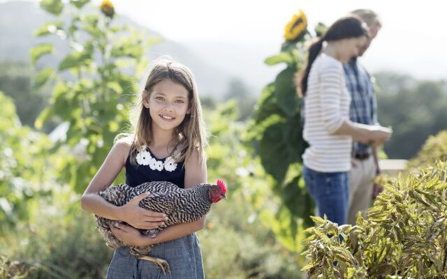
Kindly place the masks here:
POLYGON ((295 251, 301 247, 296 244, 298 231, 312 225, 309 215, 314 207, 301 180, 301 156, 307 143, 302 138, 302 99, 295 85, 295 75, 307 57, 304 44, 310 39, 305 29, 295 40, 284 42, 279 54, 265 59, 267 65, 285 63, 286 68, 263 89, 250 135, 258 144, 265 172, 273 178, 270 189, 282 204, 268 214, 270 225, 281 243, 295 251))

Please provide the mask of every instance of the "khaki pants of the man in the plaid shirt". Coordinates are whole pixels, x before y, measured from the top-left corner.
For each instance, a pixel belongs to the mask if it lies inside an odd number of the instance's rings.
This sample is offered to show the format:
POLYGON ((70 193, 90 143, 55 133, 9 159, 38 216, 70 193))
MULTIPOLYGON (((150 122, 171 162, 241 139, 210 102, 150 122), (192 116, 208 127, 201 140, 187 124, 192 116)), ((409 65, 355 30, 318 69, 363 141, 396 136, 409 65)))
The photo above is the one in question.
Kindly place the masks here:
POLYGON ((348 223, 356 224, 357 213, 362 211, 365 216, 372 202, 373 179, 376 176, 376 165, 373 156, 365 160, 352 158, 352 168, 349 173, 349 211, 348 223))

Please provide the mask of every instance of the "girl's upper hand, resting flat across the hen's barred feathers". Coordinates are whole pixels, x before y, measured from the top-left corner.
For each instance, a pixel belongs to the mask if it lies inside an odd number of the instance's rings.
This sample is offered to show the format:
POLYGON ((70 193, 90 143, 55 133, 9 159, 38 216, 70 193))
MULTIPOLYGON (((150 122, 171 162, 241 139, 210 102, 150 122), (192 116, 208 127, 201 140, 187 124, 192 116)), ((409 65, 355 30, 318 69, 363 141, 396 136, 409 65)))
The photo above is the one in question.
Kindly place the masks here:
POLYGON ((134 197, 130 202, 121 206, 120 220, 128 223, 136 229, 155 229, 164 224, 168 217, 164 213, 149 211, 142 209, 140 204, 149 193, 143 193, 138 197, 134 197))

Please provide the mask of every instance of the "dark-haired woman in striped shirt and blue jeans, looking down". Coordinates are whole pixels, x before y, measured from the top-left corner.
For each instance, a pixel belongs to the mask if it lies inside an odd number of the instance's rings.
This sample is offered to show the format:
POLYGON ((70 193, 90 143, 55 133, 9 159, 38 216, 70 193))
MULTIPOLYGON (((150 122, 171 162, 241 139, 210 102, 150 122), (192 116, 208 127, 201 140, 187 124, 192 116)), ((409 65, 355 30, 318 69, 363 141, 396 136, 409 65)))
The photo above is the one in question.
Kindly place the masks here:
POLYGON ((309 48, 302 74, 305 96, 303 136, 309 147, 303 154, 303 177, 316 202, 317 215, 346 224, 352 140, 378 145, 388 140, 390 129, 349 121, 351 96, 344 81, 343 64, 358 56, 368 30, 357 17, 337 20, 309 48), (323 42, 326 44, 323 52, 323 42))

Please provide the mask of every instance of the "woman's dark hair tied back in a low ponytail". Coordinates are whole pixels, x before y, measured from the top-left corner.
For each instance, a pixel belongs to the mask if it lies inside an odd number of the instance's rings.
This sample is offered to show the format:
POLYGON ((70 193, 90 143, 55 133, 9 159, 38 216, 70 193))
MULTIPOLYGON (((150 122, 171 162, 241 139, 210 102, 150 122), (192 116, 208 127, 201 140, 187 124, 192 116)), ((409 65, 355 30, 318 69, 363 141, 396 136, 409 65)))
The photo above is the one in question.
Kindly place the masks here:
POLYGON ((342 17, 334 22, 326 31, 324 36, 321 36, 316 43, 309 47, 309 58, 307 66, 301 74, 301 95, 305 96, 307 91, 307 78, 309 77, 310 68, 316 59, 316 56, 321 52, 323 42, 331 42, 334 40, 342 40, 346 38, 358 38, 361 36, 368 36, 368 28, 365 22, 362 22, 359 17, 348 16, 342 17))

